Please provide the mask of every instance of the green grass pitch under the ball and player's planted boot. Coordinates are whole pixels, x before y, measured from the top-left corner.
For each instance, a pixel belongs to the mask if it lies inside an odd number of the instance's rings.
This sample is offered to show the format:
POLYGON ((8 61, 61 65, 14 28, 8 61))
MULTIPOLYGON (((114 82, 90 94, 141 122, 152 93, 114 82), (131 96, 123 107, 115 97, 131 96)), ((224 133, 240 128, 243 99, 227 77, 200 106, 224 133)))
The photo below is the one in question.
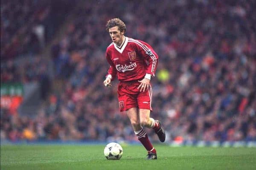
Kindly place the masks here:
POLYGON ((123 147, 120 160, 107 160, 103 145, 8 145, 0 147, 1 170, 255 170, 256 148, 155 145, 157 160, 143 146, 123 147))

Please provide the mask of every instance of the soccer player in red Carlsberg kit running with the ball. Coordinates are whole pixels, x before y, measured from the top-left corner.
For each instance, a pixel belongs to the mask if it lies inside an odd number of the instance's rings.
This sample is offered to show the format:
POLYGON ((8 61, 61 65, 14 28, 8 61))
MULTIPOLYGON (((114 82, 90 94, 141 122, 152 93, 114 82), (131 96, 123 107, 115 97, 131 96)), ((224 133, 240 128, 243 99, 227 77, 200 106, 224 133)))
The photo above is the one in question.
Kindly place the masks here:
POLYGON ((126 26, 119 18, 109 20, 106 30, 113 42, 106 51, 110 68, 103 83, 111 87, 111 81, 117 76, 120 111, 126 111, 137 139, 148 151, 147 159, 157 159, 157 151, 143 127, 153 128, 160 141, 165 141, 166 134, 161 122, 150 118, 150 79, 154 77, 158 56, 146 42, 125 37, 126 26))

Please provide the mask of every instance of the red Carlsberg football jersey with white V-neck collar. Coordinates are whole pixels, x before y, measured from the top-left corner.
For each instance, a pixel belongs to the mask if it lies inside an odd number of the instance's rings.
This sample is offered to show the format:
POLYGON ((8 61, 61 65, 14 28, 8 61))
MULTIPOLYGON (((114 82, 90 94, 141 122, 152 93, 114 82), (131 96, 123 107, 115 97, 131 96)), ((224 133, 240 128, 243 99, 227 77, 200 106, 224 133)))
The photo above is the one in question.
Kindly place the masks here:
POLYGON ((110 64, 108 74, 112 79, 117 75, 121 82, 141 80, 145 74, 154 77, 158 56, 154 49, 146 42, 125 37, 119 47, 111 43, 106 51, 106 58, 110 64))

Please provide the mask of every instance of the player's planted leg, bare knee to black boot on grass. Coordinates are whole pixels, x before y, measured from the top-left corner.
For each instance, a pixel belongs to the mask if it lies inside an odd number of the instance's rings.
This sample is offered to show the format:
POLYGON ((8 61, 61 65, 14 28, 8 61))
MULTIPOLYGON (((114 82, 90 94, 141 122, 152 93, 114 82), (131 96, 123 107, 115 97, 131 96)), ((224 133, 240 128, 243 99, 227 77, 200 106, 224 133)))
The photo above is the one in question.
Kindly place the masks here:
POLYGON ((131 125, 134 129, 134 133, 137 139, 143 144, 145 149, 148 151, 148 159, 157 159, 156 150, 148 139, 146 131, 140 125, 140 118, 138 108, 130 108, 126 110, 126 114, 131 121, 131 125))

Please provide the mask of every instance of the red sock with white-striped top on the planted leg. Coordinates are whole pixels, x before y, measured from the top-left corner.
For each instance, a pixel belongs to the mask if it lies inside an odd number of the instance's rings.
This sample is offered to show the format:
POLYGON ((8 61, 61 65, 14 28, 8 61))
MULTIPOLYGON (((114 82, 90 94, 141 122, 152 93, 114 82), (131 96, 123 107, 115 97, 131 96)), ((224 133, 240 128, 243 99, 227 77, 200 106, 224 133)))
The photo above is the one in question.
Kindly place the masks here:
POLYGON ((148 152, 157 153, 157 151, 154 149, 153 145, 149 141, 146 131, 143 128, 140 131, 135 132, 135 135, 148 152))

